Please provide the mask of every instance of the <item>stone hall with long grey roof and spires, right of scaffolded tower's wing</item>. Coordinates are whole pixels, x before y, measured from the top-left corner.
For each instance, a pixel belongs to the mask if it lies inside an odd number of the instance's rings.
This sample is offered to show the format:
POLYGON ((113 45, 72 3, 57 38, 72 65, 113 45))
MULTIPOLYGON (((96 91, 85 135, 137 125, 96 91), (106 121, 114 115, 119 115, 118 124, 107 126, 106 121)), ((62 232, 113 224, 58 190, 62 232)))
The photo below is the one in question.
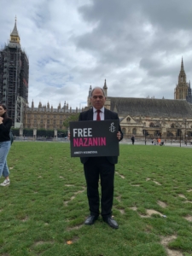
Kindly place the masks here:
MULTIPOLYGON (((155 98, 129 98, 108 96, 106 80, 103 90, 107 96, 105 107, 119 114, 120 125, 125 137, 131 134, 137 137, 192 137, 192 104, 187 102, 191 97, 189 84, 183 70, 178 76, 175 90, 175 100, 155 98)), ((87 108, 91 108, 90 95, 87 98, 87 108)))

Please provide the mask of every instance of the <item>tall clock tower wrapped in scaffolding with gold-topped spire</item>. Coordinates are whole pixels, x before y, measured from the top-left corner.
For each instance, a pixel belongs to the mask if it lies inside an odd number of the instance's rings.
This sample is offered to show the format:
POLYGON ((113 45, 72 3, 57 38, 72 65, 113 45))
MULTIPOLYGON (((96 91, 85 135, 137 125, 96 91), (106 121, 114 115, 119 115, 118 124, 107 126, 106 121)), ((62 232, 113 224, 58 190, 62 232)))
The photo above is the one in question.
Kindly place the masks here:
POLYGON ((0 102, 8 108, 16 127, 23 123, 23 109, 28 102, 29 61, 20 47, 16 20, 9 44, 0 50, 0 102))

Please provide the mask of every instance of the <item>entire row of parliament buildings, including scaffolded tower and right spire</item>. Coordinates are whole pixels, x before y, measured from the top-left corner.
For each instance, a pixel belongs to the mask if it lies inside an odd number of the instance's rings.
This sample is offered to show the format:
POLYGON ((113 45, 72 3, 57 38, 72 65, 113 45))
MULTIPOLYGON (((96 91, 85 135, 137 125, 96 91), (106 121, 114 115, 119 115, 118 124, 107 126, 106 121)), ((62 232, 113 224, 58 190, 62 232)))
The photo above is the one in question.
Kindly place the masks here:
MULTIPOLYGON (((88 88, 87 107, 72 109, 65 102, 58 108, 28 104, 29 61, 20 46, 20 36, 16 26, 10 34, 9 44, 0 50, 0 102, 9 109, 15 128, 64 130, 63 121, 90 106, 92 87, 88 88)), ((192 96, 190 82, 186 79, 183 59, 178 74, 174 100, 155 98, 131 98, 108 96, 108 86, 104 81, 103 90, 107 100, 105 107, 118 113, 125 137, 131 134, 149 137, 191 137, 192 136, 192 96)))

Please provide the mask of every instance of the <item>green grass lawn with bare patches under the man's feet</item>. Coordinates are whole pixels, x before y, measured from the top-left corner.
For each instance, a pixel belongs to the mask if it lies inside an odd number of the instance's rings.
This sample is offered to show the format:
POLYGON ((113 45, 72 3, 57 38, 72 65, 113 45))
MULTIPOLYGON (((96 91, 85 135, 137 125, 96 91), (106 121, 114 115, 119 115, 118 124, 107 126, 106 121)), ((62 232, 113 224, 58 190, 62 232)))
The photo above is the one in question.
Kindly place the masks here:
POLYGON ((191 154, 120 145, 113 201, 119 230, 113 230, 102 218, 84 225, 83 165, 70 157, 69 143, 14 143, 11 184, 0 188, 0 255, 164 256, 167 248, 192 255, 191 154))

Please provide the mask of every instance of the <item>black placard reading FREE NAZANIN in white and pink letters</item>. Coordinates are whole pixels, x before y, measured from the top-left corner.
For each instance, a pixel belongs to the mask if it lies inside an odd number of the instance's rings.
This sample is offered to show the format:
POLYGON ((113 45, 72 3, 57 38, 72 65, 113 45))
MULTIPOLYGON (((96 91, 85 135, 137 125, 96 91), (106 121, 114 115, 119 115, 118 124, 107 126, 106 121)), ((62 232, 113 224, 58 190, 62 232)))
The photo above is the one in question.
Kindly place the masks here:
POLYGON ((72 157, 119 155, 119 120, 70 122, 72 157))

